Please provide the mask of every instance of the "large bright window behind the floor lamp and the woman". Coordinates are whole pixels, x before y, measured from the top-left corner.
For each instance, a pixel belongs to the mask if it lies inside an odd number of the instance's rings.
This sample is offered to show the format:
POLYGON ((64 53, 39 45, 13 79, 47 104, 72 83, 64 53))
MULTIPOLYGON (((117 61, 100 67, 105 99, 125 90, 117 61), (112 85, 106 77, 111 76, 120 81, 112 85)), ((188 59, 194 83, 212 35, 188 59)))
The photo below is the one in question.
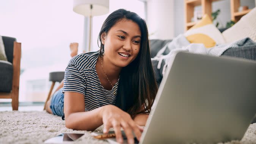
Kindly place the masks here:
MULTIPOLYGON (((51 85, 49 72, 65 70, 71 58, 71 42, 78 42, 79 53, 82 53, 84 17, 72 8, 72 0, 0 2, 0 35, 14 37, 22 43, 20 102, 46 100, 51 85)), ((110 13, 119 8, 145 17, 144 2, 139 0, 110 0, 110 13)), ((93 17, 95 51, 99 50, 97 35, 107 16, 93 17)))

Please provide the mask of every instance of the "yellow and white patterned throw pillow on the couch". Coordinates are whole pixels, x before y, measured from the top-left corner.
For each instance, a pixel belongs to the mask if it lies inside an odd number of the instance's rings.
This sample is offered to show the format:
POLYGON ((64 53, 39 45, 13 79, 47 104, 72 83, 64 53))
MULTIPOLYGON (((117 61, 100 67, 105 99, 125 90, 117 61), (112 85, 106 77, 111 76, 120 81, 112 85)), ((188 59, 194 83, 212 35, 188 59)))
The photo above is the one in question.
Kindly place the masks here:
POLYGON ((190 43, 203 43, 206 48, 225 43, 222 34, 212 24, 212 20, 207 14, 192 28, 186 31, 184 35, 190 43))

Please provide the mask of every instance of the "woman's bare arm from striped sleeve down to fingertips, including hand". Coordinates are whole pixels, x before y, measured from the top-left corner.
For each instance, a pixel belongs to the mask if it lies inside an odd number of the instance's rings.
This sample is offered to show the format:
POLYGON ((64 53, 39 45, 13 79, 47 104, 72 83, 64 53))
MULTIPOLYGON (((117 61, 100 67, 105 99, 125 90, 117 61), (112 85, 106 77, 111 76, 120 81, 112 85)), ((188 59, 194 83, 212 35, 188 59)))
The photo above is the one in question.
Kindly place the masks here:
POLYGON ((74 130, 92 131, 104 123, 104 133, 113 127, 116 140, 123 142, 121 127, 123 127, 129 143, 133 143, 133 134, 140 139, 141 128, 132 120, 130 114, 114 105, 105 105, 100 108, 85 112, 84 95, 77 92, 64 93, 65 125, 74 130))

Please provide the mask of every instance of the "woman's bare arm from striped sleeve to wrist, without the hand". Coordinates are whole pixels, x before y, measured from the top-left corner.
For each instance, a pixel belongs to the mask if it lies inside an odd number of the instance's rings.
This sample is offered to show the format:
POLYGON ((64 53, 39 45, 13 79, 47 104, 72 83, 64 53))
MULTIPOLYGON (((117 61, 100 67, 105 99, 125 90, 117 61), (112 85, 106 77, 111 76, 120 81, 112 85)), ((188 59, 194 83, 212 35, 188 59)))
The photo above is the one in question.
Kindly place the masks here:
POLYGON ((85 112, 84 95, 78 92, 64 93, 65 125, 74 130, 92 131, 103 124, 99 112, 102 107, 85 112))

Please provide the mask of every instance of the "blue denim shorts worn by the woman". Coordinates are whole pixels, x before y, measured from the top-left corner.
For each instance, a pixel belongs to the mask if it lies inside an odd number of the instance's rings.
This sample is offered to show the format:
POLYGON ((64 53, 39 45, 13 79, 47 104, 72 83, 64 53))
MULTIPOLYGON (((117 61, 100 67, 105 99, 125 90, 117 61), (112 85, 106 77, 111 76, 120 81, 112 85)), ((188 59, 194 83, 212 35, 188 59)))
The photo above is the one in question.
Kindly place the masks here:
POLYGON ((52 95, 52 100, 50 103, 50 108, 52 113, 57 116, 64 115, 64 94, 62 93, 62 88, 59 89, 52 95))

